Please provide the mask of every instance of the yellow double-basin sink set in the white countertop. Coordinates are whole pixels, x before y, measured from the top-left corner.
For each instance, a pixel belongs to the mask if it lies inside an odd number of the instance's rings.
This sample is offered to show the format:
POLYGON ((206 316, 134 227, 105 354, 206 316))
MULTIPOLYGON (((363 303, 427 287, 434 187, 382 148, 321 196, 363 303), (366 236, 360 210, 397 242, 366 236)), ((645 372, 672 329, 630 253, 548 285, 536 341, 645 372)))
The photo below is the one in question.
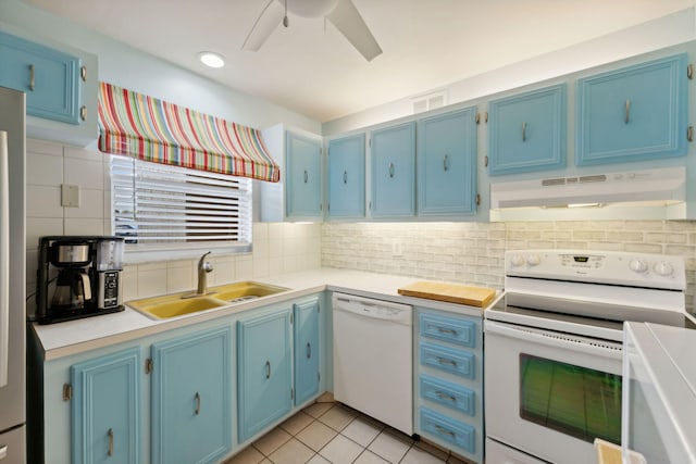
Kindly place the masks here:
POLYGON ((190 291, 165 294, 162 297, 145 298, 126 302, 126 305, 154 319, 166 319, 186 314, 200 313, 215 308, 243 303, 270 294, 288 290, 252 280, 211 287, 206 294, 190 291))

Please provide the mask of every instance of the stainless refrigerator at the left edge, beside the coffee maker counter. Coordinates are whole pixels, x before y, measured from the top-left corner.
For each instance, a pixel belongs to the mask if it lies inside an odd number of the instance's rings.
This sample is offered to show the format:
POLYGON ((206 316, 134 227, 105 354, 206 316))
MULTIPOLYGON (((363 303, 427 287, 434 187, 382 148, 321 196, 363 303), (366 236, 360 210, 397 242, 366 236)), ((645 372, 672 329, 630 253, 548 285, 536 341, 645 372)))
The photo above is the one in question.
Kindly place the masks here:
POLYGON ((0 87, 0 463, 26 462, 25 95, 0 87))

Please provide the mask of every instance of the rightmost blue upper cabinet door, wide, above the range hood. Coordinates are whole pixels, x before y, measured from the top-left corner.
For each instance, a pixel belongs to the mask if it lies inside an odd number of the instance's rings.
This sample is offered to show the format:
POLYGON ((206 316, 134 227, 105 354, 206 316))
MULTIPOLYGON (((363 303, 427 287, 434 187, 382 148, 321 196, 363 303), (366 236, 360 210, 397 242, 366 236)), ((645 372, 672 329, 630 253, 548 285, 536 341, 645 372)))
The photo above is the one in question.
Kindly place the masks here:
POLYGON ((577 79, 575 164, 686 154, 686 54, 577 79))

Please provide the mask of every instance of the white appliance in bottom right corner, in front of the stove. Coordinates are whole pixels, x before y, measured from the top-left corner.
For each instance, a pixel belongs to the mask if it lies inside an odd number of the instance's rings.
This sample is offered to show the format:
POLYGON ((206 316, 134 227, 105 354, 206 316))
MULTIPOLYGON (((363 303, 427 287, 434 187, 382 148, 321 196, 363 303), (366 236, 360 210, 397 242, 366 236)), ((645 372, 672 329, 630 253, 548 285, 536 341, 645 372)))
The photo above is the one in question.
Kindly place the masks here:
POLYGON ((696 463, 696 330, 627 323, 624 463, 696 463))

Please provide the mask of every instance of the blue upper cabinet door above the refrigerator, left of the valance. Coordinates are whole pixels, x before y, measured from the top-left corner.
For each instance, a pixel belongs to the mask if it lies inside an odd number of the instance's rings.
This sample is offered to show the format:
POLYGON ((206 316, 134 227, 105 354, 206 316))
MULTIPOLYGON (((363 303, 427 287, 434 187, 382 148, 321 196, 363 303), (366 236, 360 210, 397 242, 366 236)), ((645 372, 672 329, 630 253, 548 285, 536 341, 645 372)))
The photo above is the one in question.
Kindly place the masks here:
POLYGON ((0 86, 26 92, 28 115, 79 124, 80 60, 0 33, 0 86))

